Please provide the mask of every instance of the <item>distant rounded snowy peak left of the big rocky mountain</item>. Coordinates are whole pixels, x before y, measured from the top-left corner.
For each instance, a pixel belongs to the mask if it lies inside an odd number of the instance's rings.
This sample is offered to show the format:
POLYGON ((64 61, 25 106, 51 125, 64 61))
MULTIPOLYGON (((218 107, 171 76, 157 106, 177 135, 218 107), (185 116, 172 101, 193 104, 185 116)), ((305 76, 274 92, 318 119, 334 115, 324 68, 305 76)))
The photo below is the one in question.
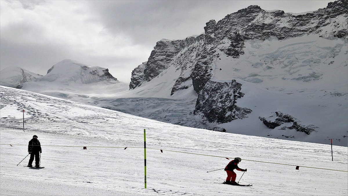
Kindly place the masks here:
MULTIPOLYGON (((18 78, 22 73, 18 70, 21 69, 1 70, 1 84, 13 87, 13 85, 6 85, 7 79, 2 76, 10 75, 18 78)), ((126 83, 113 77, 107 68, 92 67, 70 59, 56 63, 44 76, 31 78, 33 79, 30 81, 17 83, 17 88, 77 101, 98 97, 101 94, 124 91, 127 86, 126 83)))

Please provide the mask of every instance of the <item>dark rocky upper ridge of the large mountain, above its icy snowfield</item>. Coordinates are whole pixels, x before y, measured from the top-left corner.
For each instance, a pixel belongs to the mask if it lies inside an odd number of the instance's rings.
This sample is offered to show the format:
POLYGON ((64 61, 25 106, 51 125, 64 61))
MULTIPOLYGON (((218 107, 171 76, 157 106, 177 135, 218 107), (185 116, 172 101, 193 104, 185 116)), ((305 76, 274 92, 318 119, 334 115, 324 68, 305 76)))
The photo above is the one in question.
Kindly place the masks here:
POLYGON ((149 60, 133 71, 129 88, 134 89, 169 66, 175 66, 182 73, 173 86, 172 94, 186 89, 188 85, 193 85, 198 93, 213 77, 212 62, 221 55, 219 51, 239 58, 244 54, 245 40, 265 40, 270 37, 281 40, 308 34, 327 39, 347 39, 347 25, 344 24, 347 23, 347 7, 346 0, 335 1, 312 13, 292 15, 253 5, 229 14, 217 23, 211 20, 206 23, 205 33, 200 36, 157 42, 149 60))

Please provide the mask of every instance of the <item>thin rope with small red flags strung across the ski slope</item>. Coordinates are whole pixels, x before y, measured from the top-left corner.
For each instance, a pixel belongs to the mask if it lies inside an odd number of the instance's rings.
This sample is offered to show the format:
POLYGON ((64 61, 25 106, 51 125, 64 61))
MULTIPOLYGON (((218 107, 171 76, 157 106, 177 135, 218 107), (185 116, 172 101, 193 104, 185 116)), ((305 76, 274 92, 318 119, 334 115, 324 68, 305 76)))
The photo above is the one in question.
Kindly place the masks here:
MULTIPOLYGON (((26 144, 0 144, 0 145, 18 145, 18 146, 26 146, 26 144)), ((122 147, 122 146, 64 146, 64 145, 41 145, 41 146, 55 146, 55 147, 89 147, 89 148, 144 148, 144 147, 122 147)), ((208 155, 208 154, 199 154, 199 153, 192 153, 192 152, 182 152, 182 151, 175 151, 175 150, 163 150, 163 149, 157 149, 157 148, 148 148, 147 149, 153 149, 153 150, 160 150, 162 151, 169 151, 169 152, 179 152, 179 153, 187 153, 187 154, 196 154, 201 156, 209 156, 209 157, 219 157, 219 158, 228 158, 228 159, 234 159, 231 157, 221 157, 221 156, 214 156, 214 155, 208 155)), ((256 160, 248 160, 243 159, 246 161, 254 161, 254 162, 260 162, 260 163, 269 163, 269 164, 277 164, 277 165, 288 165, 288 166, 298 166, 298 165, 290 165, 290 164, 283 164, 283 163, 272 163, 267 161, 256 161, 256 160)), ((314 168, 314 169, 326 169, 326 170, 332 170, 332 171, 339 171, 339 172, 348 172, 343 170, 337 170, 337 169, 327 169, 327 168, 319 168, 319 167, 308 167, 308 166, 299 166, 299 167, 306 167, 306 168, 314 168)))

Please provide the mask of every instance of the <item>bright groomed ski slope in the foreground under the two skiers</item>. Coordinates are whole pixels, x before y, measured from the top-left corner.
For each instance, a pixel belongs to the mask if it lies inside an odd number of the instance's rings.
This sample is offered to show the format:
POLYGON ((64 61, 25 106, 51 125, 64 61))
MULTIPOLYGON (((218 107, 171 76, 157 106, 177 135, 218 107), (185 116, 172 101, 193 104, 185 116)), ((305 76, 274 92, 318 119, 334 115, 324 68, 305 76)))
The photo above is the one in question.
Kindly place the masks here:
MULTIPOLYGON (((332 161, 327 144, 182 127, 7 87, 1 87, 0 114, 0 195, 348 193, 347 147, 333 146, 332 161), (32 135, 39 136, 44 169, 23 167, 28 158, 16 166, 27 156, 32 135), (237 156, 248 169, 240 183, 253 187, 220 184, 223 170, 207 173, 226 166, 225 157, 237 156)), ((237 171, 237 180, 241 176, 237 171)))

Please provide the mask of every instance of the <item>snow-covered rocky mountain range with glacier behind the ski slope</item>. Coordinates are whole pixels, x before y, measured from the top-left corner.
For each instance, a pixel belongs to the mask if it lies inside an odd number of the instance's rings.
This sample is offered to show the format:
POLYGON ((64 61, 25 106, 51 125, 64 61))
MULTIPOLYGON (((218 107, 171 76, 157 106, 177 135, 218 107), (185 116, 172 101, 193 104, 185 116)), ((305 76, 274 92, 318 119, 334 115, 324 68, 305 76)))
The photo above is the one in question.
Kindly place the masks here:
POLYGON ((129 86, 71 60, 21 86, 177 125, 346 146, 347 2, 211 20, 201 35, 157 42, 129 86))

